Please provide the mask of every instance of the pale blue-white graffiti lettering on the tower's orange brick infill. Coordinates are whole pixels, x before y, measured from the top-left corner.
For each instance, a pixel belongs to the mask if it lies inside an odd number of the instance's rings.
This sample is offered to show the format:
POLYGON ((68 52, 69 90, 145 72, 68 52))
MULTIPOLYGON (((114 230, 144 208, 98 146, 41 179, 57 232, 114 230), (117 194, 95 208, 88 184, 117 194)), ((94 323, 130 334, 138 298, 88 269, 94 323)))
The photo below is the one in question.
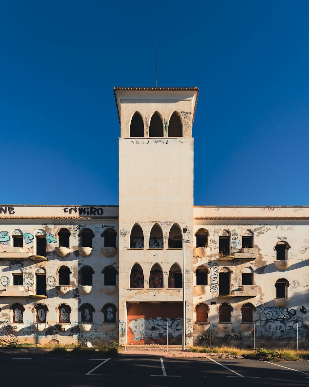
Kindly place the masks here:
POLYGON ((179 337, 182 335, 182 319, 162 320, 160 317, 154 319, 137 319, 129 322, 128 327, 134 333, 134 340, 150 340, 166 337, 168 324, 168 337, 179 337))

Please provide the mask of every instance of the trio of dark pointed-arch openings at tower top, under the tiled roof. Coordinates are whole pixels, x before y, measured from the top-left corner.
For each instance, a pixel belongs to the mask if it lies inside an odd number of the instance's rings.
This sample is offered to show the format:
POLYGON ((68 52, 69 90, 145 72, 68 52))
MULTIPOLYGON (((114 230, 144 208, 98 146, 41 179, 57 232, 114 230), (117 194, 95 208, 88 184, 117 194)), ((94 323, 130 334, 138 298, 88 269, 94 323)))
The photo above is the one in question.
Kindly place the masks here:
MULTIPOLYGON (((146 130, 148 127, 146 127, 146 130)), ((164 137, 164 130, 167 130, 168 137, 182 137, 182 120, 180 114, 175 111, 169 120, 164 122, 161 115, 156 111, 153 113, 149 123, 149 137, 164 137), (164 127, 163 127, 164 124, 164 127)), ((144 137, 144 120, 136 111, 131 119, 130 137, 144 137)))

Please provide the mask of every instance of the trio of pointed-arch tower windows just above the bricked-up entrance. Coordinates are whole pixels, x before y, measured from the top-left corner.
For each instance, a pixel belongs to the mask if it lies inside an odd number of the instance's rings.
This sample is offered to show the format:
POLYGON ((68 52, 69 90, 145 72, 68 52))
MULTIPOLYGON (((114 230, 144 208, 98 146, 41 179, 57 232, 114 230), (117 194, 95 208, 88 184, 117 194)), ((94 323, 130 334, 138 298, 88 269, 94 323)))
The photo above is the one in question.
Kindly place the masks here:
MULTIPOLYGON (((163 289, 163 271, 156 263, 151 267, 148 281, 149 289, 163 289)), ((173 264, 168 272, 168 289, 182 288, 182 271, 178 264, 173 264)), ((139 264, 133 265, 130 274, 130 289, 144 289, 144 272, 139 264)))

